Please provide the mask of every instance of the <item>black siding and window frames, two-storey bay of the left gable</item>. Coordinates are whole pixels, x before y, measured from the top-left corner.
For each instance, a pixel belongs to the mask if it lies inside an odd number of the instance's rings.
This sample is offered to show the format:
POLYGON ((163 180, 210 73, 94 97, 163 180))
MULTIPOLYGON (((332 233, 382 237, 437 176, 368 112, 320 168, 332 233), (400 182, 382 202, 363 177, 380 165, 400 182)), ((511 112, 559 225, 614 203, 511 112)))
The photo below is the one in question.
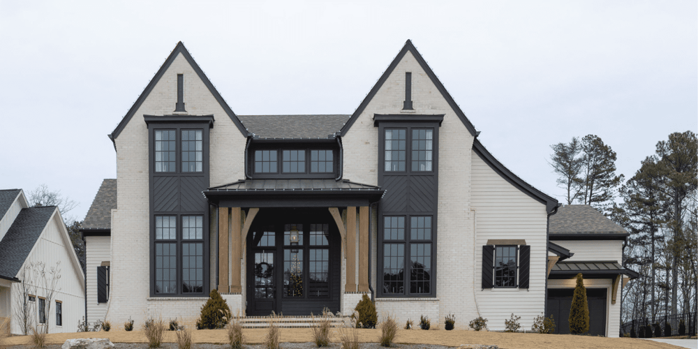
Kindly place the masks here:
POLYGON ((149 135, 149 196, 150 196, 150 296, 151 297, 207 297, 209 295, 209 205, 201 194, 209 186, 209 129, 213 126, 212 116, 145 116, 149 135), (155 131, 174 130, 175 170, 173 172, 155 171, 155 131), (181 131, 202 131, 202 170, 200 172, 182 171, 181 131), (155 217, 177 217, 177 291, 172 293, 156 292, 156 257, 155 257, 155 217), (182 216, 203 217, 203 288, 202 292, 183 292, 182 276, 182 216))

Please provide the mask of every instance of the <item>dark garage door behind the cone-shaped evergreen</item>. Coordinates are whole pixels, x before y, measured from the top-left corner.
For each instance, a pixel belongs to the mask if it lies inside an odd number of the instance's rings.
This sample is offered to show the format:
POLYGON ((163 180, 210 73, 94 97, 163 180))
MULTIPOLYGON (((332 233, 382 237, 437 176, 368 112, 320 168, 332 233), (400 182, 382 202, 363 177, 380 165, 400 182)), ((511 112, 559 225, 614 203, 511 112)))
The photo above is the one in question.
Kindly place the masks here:
MULTIPOLYGON (((555 319, 555 333, 570 333, 570 308, 574 288, 551 288, 548 290, 548 312, 555 319)), ((589 332, 592 336, 606 336, 606 289, 587 288, 589 304, 589 332)))

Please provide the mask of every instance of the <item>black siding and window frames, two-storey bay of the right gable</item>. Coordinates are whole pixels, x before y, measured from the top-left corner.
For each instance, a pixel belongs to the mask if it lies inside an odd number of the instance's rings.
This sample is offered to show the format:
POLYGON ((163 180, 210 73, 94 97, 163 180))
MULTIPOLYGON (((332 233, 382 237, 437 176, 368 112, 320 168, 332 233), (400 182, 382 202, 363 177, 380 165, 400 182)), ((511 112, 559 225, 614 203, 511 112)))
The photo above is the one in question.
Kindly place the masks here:
MULTIPOLYGON (((411 107, 411 101, 410 101, 411 107)), ((385 190, 385 196, 378 207, 378 278, 377 297, 436 297, 436 246, 438 226, 438 139, 439 127, 443 115, 378 115, 374 116, 374 125, 378 126, 378 186, 385 190), (406 130, 406 165, 404 171, 385 170, 385 130, 406 130), (412 130, 433 130, 431 170, 412 171, 412 130), (403 272, 403 292, 385 292, 384 271, 384 237, 385 217, 405 217, 405 263, 403 272), (431 217, 431 272, 429 275, 429 292, 410 292, 410 217, 431 217)), ((385 242, 390 244, 393 242, 385 242)))

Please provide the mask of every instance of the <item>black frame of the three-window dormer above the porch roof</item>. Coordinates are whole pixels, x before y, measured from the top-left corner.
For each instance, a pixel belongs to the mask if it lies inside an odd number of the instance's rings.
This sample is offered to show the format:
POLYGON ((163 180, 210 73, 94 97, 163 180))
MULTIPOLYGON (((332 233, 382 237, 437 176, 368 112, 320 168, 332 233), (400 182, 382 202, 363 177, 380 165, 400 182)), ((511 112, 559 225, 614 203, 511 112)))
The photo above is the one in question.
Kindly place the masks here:
POLYGON ((245 172, 252 179, 336 179, 339 177, 341 149, 334 140, 332 142, 253 142, 248 147, 247 154, 245 172), (276 172, 255 171, 255 152, 260 150, 276 151, 276 172), (304 151, 303 172, 283 171, 283 151, 285 150, 304 151), (311 151, 313 150, 332 151, 332 172, 312 172, 311 151))

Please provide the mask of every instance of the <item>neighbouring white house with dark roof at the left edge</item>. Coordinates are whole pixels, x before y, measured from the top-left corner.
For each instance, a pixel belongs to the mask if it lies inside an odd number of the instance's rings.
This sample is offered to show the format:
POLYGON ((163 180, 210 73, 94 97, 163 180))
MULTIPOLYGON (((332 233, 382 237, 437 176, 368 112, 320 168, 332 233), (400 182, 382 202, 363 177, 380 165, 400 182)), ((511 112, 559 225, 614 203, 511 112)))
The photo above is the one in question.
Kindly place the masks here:
POLYGON ((29 207, 21 189, 0 190, 0 320, 76 332, 84 274, 58 207, 29 207))

